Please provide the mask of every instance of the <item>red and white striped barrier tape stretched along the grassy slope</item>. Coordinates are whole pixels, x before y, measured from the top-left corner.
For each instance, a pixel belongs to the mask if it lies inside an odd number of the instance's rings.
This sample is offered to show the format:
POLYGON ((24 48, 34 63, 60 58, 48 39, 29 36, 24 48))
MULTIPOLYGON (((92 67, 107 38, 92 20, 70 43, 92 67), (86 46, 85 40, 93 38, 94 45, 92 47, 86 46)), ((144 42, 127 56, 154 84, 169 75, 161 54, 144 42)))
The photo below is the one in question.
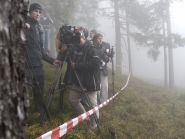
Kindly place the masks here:
POLYGON ((90 115, 95 113, 97 110, 99 110, 100 108, 102 108, 106 104, 108 104, 110 101, 112 101, 121 91, 123 91, 127 87, 129 79, 130 79, 130 73, 128 75, 127 82, 126 82, 125 86, 120 91, 118 91, 114 96, 112 96, 108 100, 104 101, 102 104, 94 107, 93 109, 89 110, 88 112, 83 113, 80 116, 78 116, 72 120, 69 120, 68 122, 54 128, 53 130, 48 131, 47 133, 41 135, 40 137, 38 137, 36 139, 59 139, 64 134, 69 132, 73 127, 75 127, 76 125, 81 123, 84 119, 86 119, 87 117, 89 117, 90 115))

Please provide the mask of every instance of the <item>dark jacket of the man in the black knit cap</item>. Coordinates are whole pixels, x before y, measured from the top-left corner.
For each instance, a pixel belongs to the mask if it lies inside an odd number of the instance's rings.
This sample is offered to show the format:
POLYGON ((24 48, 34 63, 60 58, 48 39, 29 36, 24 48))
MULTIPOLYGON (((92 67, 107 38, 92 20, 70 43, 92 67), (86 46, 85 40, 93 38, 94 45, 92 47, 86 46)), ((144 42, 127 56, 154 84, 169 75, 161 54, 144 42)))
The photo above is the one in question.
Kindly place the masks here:
POLYGON ((42 60, 53 64, 54 59, 44 53, 42 31, 39 29, 39 22, 28 16, 27 23, 30 24, 30 29, 26 29, 26 67, 43 66, 42 60))

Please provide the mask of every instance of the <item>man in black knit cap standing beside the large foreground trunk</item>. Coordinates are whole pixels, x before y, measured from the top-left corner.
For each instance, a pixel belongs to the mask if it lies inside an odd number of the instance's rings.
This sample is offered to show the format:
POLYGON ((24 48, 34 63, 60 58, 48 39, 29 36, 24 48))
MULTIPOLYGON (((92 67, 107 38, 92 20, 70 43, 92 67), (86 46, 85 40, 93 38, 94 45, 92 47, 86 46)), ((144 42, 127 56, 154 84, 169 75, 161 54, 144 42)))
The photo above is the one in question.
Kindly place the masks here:
MULTIPOLYGON (((37 111, 40 113, 40 116, 44 113, 44 105, 39 97, 39 92, 41 95, 44 93, 44 70, 42 60, 58 66, 61 62, 49 57, 43 51, 42 44, 42 28, 39 25, 38 18, 40 17, 42 7, 38 3, 33 3, 29 7, 29 16, 25 23, 26 28, 26 78, 28 83, 31 82, 33 77, 36 77, 36 80, 32 81, 35 86, 37 84, 40 88, 38 91, 37 87, 33 87, 33 97, 34 103, 37 111), (35 83, 34 83, 35 82, 35 83)), ((35 78, 34 78, 35 79, 35 78)))

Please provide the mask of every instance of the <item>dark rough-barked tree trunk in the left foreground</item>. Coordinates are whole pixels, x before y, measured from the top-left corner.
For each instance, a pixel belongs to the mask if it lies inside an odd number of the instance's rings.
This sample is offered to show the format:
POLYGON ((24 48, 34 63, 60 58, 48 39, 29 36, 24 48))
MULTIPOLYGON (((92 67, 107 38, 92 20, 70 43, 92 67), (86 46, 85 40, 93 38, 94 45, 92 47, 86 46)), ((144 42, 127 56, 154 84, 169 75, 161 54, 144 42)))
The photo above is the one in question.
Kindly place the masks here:
POLYGON ((0 138, 24 139, 29 105, 24 74, 27 3, 0 0, 0 138))

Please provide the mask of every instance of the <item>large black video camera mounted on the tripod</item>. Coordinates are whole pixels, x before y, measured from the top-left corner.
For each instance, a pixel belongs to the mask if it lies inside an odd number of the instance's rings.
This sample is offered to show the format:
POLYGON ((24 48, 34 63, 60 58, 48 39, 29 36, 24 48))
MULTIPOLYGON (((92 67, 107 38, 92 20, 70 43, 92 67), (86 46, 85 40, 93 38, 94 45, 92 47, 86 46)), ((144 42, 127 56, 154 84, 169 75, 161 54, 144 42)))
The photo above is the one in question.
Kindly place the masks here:
POLYGON ((56 50, 57 52, 64 52, 71 45, 80 44, 80 37, 82 27, 63 25, 56 36, 56 50))

